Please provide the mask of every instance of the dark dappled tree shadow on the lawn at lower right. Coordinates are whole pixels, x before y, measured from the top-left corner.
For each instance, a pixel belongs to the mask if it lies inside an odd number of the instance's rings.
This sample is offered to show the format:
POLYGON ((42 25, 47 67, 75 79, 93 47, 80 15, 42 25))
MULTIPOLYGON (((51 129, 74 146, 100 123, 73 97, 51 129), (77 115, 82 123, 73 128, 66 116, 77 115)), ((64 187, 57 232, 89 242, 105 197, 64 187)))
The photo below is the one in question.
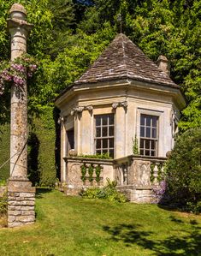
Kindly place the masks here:
MULTIPOLYGON (((175 217, 170 217, 175 224, 184 222, 175 217)), ((180 229, 180 233, 170 235, 163 240, 153 239, 153 232, 140 230, 141 225, 122 223, 116 226, 103 226, 103 230, 111 235, 111 240, 122 241, 126 247, 138 245, 142 249, 150 249, 157 256, 201 255, 201 228, 198 223, 189 223, 190 229, 180 229)), ((156 235, 158 235, 156 233, 156 235)))

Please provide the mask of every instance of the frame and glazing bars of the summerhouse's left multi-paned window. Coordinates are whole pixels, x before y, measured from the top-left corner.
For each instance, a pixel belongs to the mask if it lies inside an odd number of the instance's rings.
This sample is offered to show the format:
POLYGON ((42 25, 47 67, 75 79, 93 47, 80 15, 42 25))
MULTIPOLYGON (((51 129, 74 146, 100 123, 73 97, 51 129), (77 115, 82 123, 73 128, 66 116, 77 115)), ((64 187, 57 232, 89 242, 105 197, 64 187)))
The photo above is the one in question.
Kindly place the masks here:
MULTIPOLYGON (((94 152, 95 154, 109 153, 112 150, 112 158, 115 158, 115 114, 105 113, 100 115, 94 115, 94 152), (107 116, 107 124, 103 124, 103 117, 107 116), (109 123, 109 116, 113 116, 113 122, 109 123), (100 124, 97 125, 97 117, 100 117, 100 124), (97 128, 100 128, 100 136, 97 136, 97 128), (103 136, 103 128, 107 128, 107 135, 103 136), (113 128, 113 135, 109 135, 109 128, 113 128), (113 139, 113 146, 110 146, 109 140, 113 139), (100 147, 97 147, 97 142, 100 140, 100 147), (103 147, 103 140, 107 141, 107 147, 103 147), (103 152, 106 151, 107 152, 103 152)), ((105 129, 104 129, 105 131, 105 129)))

